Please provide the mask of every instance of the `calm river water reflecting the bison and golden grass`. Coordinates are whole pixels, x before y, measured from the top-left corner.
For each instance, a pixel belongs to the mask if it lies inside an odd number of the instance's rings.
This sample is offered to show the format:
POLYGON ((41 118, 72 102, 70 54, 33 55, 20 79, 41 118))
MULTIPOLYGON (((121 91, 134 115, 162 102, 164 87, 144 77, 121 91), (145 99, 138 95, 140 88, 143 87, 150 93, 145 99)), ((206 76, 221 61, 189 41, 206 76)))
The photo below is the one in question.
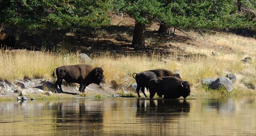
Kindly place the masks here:
POLYGON ((0 102, 0 135, 256 135, 256 96, 0 102))

